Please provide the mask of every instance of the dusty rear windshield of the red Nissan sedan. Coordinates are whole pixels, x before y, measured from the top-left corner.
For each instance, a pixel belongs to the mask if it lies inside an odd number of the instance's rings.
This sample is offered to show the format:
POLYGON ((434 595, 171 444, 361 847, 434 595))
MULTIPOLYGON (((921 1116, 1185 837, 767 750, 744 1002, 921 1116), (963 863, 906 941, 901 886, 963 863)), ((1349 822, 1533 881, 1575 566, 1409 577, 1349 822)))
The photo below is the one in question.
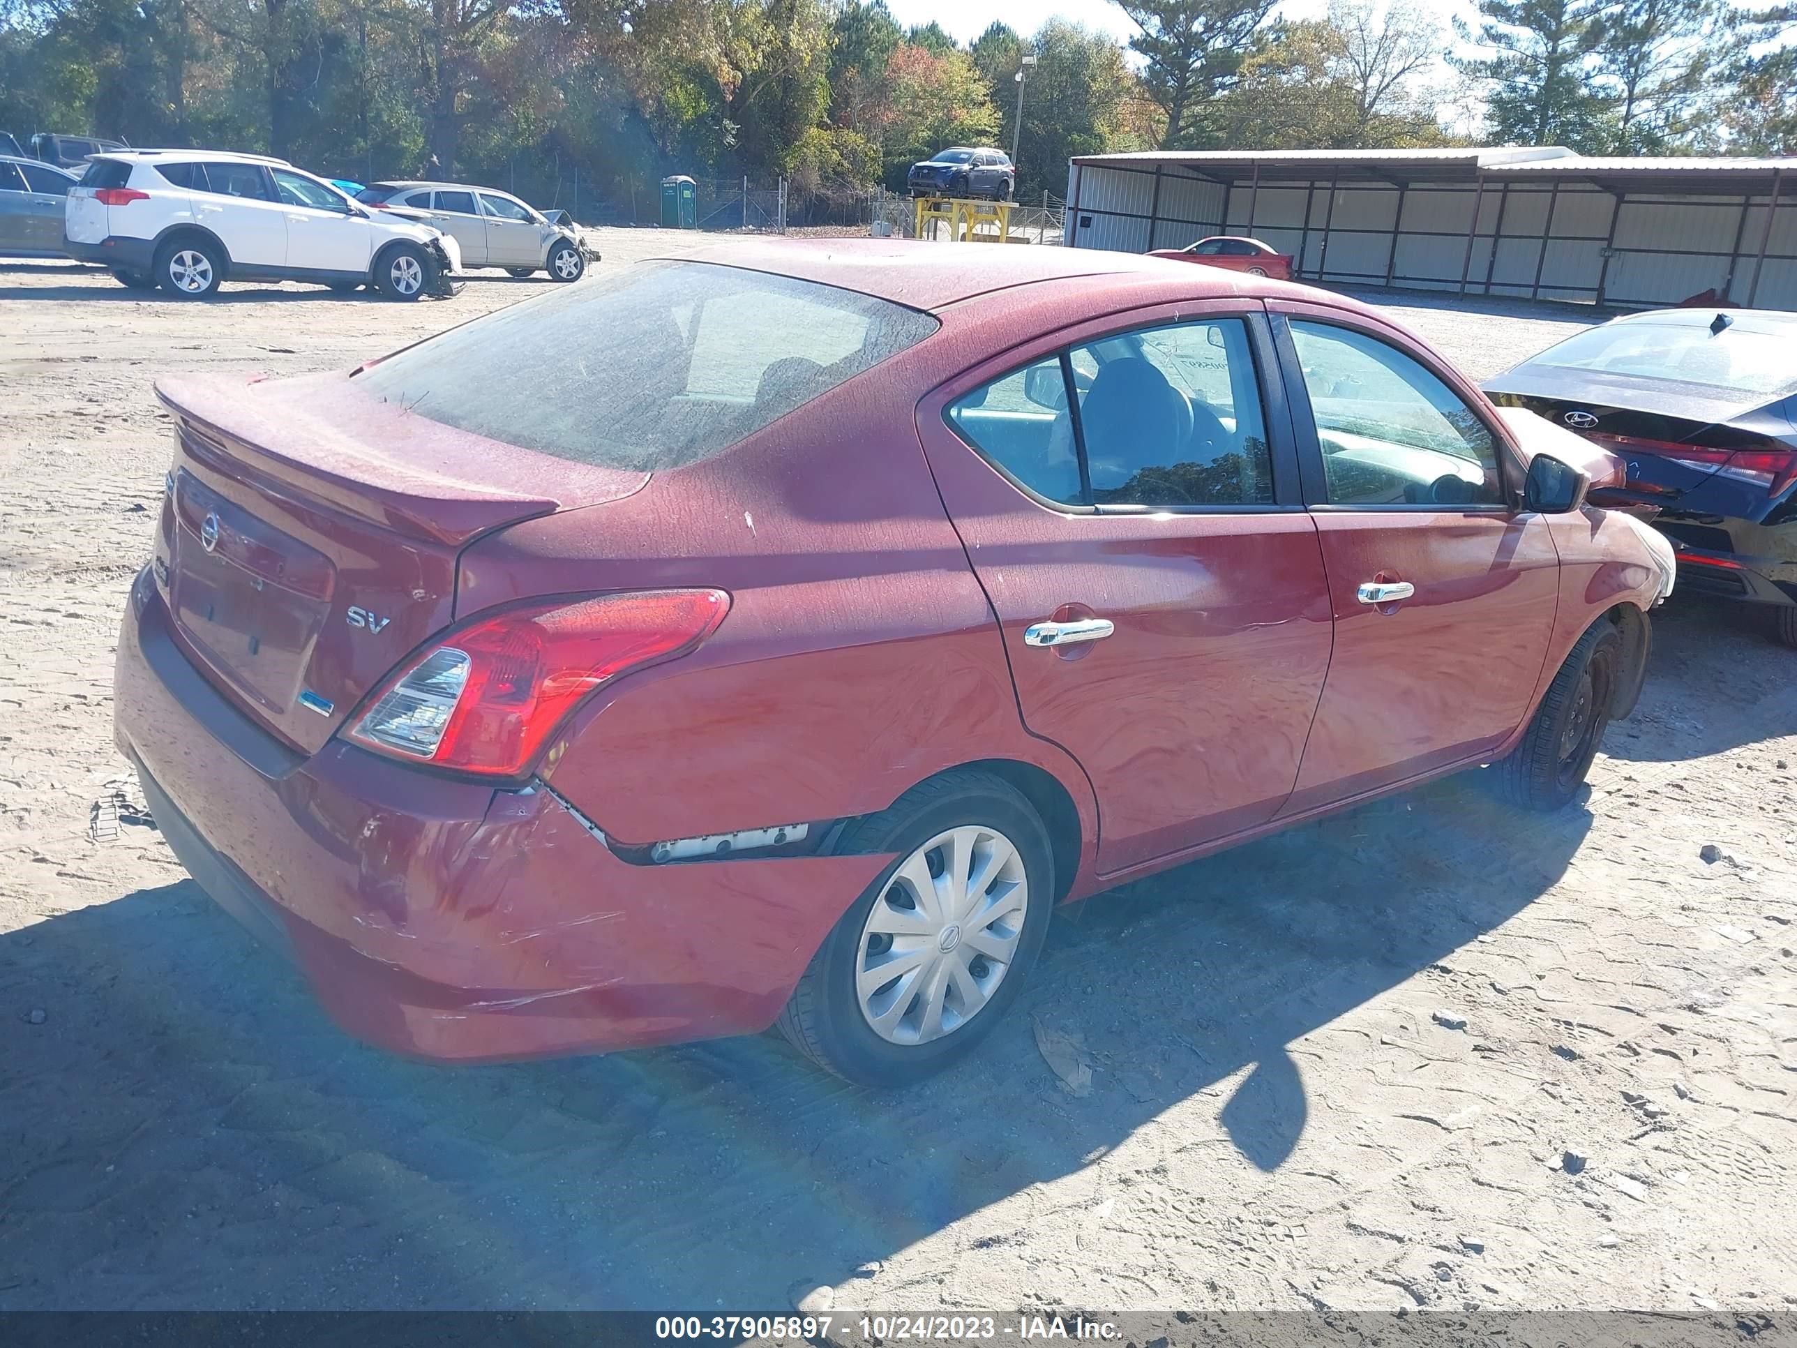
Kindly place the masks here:
POLYGON ((915 309, 706 262, 652 262, 392 356, 358 386, 557 458, 694 464, 936 331, 915 309))

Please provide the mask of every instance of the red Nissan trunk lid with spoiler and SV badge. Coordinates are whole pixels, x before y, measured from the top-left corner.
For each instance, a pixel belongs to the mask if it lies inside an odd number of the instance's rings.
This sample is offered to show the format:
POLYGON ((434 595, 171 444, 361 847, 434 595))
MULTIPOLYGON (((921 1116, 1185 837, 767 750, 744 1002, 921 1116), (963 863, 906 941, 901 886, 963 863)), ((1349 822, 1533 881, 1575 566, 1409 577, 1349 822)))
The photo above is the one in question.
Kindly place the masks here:
POLYGON ((462 548, 647 482, 442 426, 345 374, 176 377, 156 394, 176 426, 158 566, 174 629, 216 687, 307 753, 449 625, 462 548))

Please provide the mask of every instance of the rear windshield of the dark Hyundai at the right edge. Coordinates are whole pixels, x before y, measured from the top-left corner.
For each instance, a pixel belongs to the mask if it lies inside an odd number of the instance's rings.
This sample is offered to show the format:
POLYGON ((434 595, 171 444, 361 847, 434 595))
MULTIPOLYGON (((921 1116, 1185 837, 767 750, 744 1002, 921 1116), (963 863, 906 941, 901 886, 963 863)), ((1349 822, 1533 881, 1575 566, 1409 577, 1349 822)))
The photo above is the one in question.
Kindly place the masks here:
POLYGON ((1790 338, 1707 324, 1605 324, 1549 347, 1531 365, 1646 379, 1677 379, 1736 394, 1797 388, 1790 338))

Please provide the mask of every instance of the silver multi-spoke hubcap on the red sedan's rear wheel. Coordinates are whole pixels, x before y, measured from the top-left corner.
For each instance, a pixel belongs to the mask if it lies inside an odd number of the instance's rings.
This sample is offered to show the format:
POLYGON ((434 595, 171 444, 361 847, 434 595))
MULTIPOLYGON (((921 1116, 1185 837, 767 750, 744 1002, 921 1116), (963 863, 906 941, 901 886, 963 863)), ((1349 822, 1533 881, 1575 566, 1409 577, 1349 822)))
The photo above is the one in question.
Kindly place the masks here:
POLYGON ((873 900, 855 954, 855 999, 873 1033, 927 1044, 972 1021, 1017 958, 1030 879, 996 829, 936 834, 873 900))

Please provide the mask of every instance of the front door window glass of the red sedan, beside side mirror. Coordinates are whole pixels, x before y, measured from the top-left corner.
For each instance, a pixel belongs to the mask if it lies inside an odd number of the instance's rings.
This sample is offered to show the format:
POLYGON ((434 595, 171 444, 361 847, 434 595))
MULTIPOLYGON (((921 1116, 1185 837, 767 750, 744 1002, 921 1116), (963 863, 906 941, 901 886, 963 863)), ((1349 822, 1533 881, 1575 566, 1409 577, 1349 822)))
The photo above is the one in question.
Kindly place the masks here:
POLYGON ((1414 358, 1364 333, 1292 322, 1332 505, 1499 505, 1497 442, 1414 358))

